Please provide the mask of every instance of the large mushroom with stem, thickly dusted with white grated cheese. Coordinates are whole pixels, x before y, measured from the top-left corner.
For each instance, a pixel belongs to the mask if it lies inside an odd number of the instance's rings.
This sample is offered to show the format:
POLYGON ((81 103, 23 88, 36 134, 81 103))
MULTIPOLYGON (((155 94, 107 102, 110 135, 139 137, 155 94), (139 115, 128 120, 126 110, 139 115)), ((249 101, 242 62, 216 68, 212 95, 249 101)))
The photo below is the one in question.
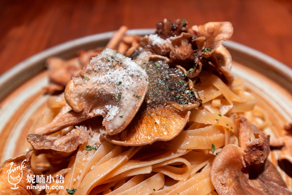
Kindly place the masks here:
POLYGON ((36 133, 52 133, 102 115, 107 133, 117 134, 139 110, 149 84, 147 79, 146 72, 130 58, 105 49, 68 82, 65 100, 72 111, 37 129, 36 133))

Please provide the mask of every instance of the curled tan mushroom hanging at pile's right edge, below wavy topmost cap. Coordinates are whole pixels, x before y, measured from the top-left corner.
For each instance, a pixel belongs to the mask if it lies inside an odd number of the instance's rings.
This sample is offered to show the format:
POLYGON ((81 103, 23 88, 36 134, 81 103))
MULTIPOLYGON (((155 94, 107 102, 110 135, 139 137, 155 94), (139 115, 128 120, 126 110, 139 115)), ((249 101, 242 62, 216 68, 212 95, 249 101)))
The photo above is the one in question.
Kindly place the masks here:
POLYGON ((227 84, 232 84, 234 75, 230 72, 232 67, 232 58, 229 51, 220 45, 211 55, 210 61, 217 67, 223 75, 223 80, 227 84))

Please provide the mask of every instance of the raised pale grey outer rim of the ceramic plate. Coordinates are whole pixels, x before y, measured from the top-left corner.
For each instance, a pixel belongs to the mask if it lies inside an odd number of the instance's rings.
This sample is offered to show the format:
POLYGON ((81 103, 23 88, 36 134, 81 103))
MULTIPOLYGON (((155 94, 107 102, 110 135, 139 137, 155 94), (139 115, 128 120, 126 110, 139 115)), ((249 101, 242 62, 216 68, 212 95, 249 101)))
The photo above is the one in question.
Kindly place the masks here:
MULTIPOLYGON (((130 29, 127 30, 126 35, 145 35, 152 34, 154 32, 155 29, 130 29)), ((45 61, 48 57, 55 56, 71 48, 86 45, 94 41, 110 39, 113 33, 114 31, 102 32, 63 42, 48 49, 45 49, 39 53, 36 53, 33 56, 26 58, 25 60, 16 64, 11 69, 0 75, 0 101, 2 102, 8 94, 10 94, 20 84, 31 78, 32 75, 35 75, 44 70, 45 65, 42 66, 39 65, 39 63, 45 61), (18 77, 18 75, 21 75, 27 70, 30 71, 29 74, 23 76, 19 80, 14 80, 15 77, 18 77), (14 82, 11 83, 11 80, 13 80, 14 82)), ((248 55, 249 57, 256 58, 259 61, 264 62, 266 65, 269 66, 269 68, 271 68, 275 72, 280 73, 280 75, 284 75, 286 79, 288 79, 292 83, 292 68, 281 63, 280 61, 256 49, 234 41, 227 40, 223 42, 223 45, 226 46, 228 49, 239 51, 241 53, 244 53, 245 55, 248 55)))

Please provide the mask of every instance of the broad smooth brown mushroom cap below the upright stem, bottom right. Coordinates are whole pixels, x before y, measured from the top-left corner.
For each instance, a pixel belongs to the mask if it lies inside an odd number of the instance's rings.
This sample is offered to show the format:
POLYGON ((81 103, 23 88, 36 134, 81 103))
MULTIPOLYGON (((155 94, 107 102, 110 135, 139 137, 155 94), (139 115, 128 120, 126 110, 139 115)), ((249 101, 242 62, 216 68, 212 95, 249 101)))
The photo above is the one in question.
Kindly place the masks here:
MULTIPOLYGON (((292 194, 277 169, 267 161, 264 169, 249 176, 244 151, 234 144, 225 146, 211 166, 211 181, 220 194, 292 194), (250 179, 249 179, 250 178, 250 179)), ((254 170, 260 169, 259 167, 254 170)))

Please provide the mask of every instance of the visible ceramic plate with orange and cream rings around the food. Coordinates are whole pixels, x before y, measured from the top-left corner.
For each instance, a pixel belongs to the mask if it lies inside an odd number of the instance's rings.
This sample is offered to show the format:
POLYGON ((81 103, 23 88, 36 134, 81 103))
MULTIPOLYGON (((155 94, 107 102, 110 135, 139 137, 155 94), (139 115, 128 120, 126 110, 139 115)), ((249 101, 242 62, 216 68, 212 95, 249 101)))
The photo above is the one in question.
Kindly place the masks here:
MULTIPOLYGON (((153 29, 128 30, 127 34, 153 32, 153 29)), ((105 46, 112 35, 113 32, 106 32, 60 44, 28 58, 0 77, 1 164, 30 148, 26 135, 34 131, 45 113, 46 59, 50 56, 70 58, 79 50, 105 46)), ((273 119, 274 128, 265 132, 271 138, 282 136, 284 125, 292 122, 292 70, 244 45, 232 41, 226 41, 224 45, 233 58, 232 72, 244 79, 245 85, 257 96, 260 107, 273 119)), ((279 151, 274 150, 269 156, 275 165, 278 165, 278 155, 279 151)), ((277 167, 292 190, 291 177, 277 167)))

